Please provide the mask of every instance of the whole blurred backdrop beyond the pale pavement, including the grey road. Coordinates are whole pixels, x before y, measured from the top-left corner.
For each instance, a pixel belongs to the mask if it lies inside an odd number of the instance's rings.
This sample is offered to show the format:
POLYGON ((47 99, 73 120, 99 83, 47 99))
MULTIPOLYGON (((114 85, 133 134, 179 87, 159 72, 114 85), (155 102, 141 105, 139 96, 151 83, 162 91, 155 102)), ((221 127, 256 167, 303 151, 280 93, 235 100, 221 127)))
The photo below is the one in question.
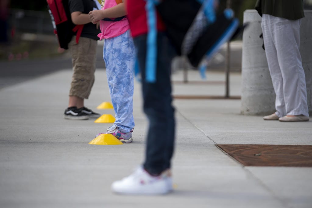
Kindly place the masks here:
MULTIPOLYGON (((253 9, 255 3, 256 0, 220 0, 220 9, 230 5, 243 22, 243 12, 253 9)), ((305 9, 312 9, 312 0, 304 3, 305 9)), ((97 68, 105 67, 102 55, 99 43, 97 68)), ((210 70, 224 70, 225 57, 223 48, 211 61, 210 70)), ((0 88, 18 82, 17 77, 34 77, 64 68, 71 68, 70 55, 58 49, 46 1, 0 0, 0 88)), ((231 44, 231 71, 241 71, 241 36, 231 44)))

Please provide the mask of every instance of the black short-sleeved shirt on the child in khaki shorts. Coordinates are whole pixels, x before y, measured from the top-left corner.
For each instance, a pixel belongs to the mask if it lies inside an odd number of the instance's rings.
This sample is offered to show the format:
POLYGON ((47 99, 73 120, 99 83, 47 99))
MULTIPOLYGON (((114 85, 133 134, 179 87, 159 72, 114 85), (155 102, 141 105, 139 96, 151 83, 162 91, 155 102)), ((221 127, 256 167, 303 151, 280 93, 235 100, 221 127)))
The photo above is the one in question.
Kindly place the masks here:
MULTIPOLYGON (((71 13, 82 12, 83 14, 89 14, 90 11, 94 10, 94 8, 97 8, 93 0, 69 0, 68 6, 71 13)), ((85 24, 83 27, 81 37, 99 40, 97 35, 100 32, 100 29, 96 29, 96 25, 90 22, 85 24)))

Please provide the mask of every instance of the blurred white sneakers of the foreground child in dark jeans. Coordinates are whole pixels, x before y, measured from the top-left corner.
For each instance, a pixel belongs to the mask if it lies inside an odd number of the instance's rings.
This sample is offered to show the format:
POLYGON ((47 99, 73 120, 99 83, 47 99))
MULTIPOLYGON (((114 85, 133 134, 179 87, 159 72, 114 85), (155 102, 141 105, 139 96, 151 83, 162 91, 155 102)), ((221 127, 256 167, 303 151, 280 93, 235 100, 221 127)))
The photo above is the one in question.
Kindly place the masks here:
POLYGON ((142 167, 134 173, 113 182, 111 188, 119 194, 166 194, 172 191, 172 179, 168 174, 151 176, 142 167))

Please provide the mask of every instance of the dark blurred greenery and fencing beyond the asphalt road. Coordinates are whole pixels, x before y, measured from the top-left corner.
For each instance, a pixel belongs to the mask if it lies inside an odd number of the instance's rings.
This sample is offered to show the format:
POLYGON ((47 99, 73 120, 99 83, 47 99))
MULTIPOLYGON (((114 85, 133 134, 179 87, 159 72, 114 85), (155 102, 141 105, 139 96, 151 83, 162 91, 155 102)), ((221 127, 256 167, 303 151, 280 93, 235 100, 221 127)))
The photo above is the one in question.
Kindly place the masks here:
MULTIPOLYGON (((0 60, 42 59, 60 56, 45 0, 0 0, 0 60)), ((253 9, 256 0, 231 0, 231 7, 242 22, 243 12, 253 9)), ((312 0, 305 0, 305 9, 312 0)), ((221 0, 226 7, 227 0, 221 0)))

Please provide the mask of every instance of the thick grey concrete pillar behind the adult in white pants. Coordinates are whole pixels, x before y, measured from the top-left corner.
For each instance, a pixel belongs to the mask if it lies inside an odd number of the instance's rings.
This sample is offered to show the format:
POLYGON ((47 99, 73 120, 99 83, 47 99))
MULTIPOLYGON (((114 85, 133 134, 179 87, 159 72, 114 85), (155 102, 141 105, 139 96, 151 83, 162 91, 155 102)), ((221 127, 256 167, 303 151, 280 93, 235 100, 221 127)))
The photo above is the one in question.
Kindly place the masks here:
MULTIPOLYGON (((241 113, 269 115, 275 112, 275 92, 262 49, 261 17, 256 10, 244 12, 244 22, 250 22, 243 34, 241 113)), ((300 53, 305 70, 309 114, 312 116, 312 10, 305 10, 300 26, 300 53)))

